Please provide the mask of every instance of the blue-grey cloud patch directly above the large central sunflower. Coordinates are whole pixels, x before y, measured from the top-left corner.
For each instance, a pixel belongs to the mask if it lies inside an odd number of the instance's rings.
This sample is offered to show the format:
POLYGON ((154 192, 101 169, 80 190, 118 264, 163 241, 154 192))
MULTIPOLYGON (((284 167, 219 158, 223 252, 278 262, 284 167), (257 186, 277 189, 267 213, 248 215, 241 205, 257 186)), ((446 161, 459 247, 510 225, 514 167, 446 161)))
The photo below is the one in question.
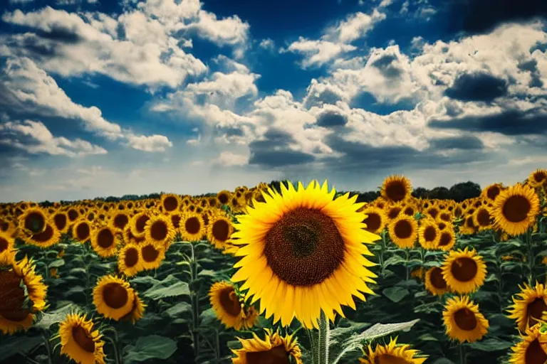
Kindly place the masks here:
POLYGON ((315 160, 311 154, 293 151, 288 144, 293 143, 293 137, 282 130, 270 129, 264 134, 264 140, 251 141, 249 164, 265 167, 282 167, 295 164, 306 164, 315 160))

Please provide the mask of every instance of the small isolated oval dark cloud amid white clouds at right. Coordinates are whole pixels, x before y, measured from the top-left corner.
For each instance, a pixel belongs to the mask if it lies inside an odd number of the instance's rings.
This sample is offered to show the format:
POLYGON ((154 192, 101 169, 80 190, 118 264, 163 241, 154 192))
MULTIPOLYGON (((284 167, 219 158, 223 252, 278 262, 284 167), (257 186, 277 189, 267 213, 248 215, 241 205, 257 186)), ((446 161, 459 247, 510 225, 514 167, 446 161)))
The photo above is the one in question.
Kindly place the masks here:
POLYGON ((462 101, 491 102, 507 94, 507 82, 489 73, 464 73, 444 95, 462 101))

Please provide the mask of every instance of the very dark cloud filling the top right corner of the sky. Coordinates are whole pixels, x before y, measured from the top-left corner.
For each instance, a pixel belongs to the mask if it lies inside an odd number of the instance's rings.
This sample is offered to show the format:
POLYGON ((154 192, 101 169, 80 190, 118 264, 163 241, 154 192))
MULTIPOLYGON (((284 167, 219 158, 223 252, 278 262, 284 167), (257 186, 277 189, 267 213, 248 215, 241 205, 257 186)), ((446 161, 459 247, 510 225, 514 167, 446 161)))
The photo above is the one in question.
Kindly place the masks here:
POLYGON ((448 5, 447 26, 454 32, 488 33, 501 23, 547 18, 547 1, 545 0, 436 0, 434 2, 439 5, 448 5))

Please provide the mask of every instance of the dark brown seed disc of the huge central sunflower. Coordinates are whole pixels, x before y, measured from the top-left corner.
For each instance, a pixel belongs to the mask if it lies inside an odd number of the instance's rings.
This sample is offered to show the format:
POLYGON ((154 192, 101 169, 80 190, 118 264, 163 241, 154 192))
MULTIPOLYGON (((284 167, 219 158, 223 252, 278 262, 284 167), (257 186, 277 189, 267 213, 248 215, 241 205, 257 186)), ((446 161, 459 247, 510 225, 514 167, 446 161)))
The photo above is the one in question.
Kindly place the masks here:
POLYGON ((320 210, 296 208, 266 233, 264 254, 277 277, 311 286, 330 277, 343 262, 345 242, 334 221, 320 210))

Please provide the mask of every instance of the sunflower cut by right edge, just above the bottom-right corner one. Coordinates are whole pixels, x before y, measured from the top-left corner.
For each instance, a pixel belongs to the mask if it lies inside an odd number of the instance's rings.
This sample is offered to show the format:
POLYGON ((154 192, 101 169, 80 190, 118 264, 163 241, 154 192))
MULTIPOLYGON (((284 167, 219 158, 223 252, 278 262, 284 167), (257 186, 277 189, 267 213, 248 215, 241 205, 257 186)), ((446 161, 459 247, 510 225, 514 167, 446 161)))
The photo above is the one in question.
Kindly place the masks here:
POLYGON ((542 318, 543 311, 547 310, 547 289, 536 282, 536 287, 524 284, 519 286, 520 293, 513 297, 513 304, 509 307, 509 319, 514 319, 521 332, 535 325, 537 319, 542 318))

